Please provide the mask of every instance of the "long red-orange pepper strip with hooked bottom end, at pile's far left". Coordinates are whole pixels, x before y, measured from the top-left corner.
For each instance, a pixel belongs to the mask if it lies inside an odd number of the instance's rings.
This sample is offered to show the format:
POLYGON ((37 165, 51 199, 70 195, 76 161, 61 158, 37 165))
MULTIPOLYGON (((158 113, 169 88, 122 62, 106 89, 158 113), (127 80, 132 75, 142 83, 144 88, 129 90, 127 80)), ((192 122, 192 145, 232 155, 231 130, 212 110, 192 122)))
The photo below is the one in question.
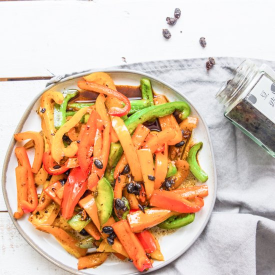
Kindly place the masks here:
POLYGON ((21 201, 21 208, 23 209, 24 213, 32 212, 38 204, 38 198, 34 183, 34 177, 31 171, 26 149, 24 147, 17 147, 14 151, 18 163, 27 169, 27 200, 21 201))

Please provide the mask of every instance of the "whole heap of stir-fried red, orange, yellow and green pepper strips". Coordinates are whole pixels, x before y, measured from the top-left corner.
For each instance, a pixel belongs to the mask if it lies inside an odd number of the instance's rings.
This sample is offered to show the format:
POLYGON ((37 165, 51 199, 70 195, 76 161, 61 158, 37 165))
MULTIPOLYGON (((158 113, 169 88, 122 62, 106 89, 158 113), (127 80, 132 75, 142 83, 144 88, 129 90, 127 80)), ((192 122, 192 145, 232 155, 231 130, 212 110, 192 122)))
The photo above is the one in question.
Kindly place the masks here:
POLYGON ((186 102, 154 94, 147 78, 140 79, 140 99, 117 91, 104 72, 77 85, 45 91, 41 131, 14 134, 28 140, 15 148, 14 217, 29 213, 36 229, 78 258, 78 269, 96 267, 113 253, 147 270, 153 259, 164 260, 150 228, 189 224, 208 194, 197 161, 202 142, 190 138, 198 120, 186 102), (81 92, 96 94, 95 101, 76 100, 81 92), (186 187, 189 173, 197 184, 186 187))

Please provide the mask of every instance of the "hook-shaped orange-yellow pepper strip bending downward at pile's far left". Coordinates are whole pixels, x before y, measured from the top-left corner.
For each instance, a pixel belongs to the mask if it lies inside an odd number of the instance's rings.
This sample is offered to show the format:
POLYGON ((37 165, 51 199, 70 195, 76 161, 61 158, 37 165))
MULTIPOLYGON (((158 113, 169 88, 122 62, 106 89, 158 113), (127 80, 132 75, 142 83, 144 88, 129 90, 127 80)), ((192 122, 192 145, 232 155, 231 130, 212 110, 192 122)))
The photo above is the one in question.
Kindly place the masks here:
POLYGON ((17 141, 22 141, 26 139, 32 139, 34 141, 35 153, 34 153, 34 159, 33 159, 31 171, 36 174, 39 171, 42 163, 42 156, 44 151, 43 137, 39 132, 26 131, 26 132, 15 133, 14 138, 17 141))

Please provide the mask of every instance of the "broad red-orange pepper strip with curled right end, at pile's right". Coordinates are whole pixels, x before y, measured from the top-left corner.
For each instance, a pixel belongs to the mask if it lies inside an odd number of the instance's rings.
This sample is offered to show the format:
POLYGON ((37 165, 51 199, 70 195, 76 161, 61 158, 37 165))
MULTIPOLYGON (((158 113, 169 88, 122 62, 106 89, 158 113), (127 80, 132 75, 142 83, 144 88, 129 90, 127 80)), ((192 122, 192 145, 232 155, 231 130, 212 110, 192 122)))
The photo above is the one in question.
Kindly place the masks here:
POLYGON ((203 206, 203 198, 196 196, 187 200, 179 193, 155 189, 150 199, 150 205, 162 207, 179 213, 195 213, 203 206))

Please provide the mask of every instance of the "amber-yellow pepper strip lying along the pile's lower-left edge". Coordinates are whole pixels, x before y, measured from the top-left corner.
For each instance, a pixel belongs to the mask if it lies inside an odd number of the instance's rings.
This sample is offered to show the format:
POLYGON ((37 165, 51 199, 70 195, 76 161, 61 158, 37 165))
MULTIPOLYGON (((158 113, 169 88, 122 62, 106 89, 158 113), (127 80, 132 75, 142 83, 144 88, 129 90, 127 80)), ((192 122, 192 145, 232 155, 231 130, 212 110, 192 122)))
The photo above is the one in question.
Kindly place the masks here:
POLYGON ((56 240, 62 245, 62 247, 76 258, 83 257, 87 252, 87 249, 80 248, 75 245, 78 242, 77 239, 70 236, 66 231, 59 227, 50 225, 39 225, 36 227, 36 229, 52 234, 56 238, 56 240))

